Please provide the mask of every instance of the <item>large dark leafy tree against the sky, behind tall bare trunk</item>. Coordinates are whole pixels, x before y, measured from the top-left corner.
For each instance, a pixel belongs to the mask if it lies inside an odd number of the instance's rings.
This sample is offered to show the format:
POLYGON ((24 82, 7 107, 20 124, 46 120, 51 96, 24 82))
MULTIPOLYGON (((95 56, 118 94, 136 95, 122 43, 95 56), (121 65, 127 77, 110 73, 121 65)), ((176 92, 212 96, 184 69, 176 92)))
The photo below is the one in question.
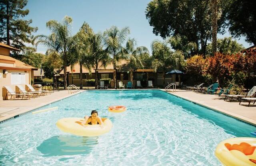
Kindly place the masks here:
MULTIPOLYGON (((226 8, 228 1, 218 4, 218 33, 224 32, 226 8)), ((146 8, 146 18, 153 33, 163 38, 168 36, 185 36, 187 45, 196 43, 193 54, 205 54, 207 41, 212 38, 212 20, 209 0, 152 0, 146 8), (199 47, 200 45, 200 47, 199 47)))

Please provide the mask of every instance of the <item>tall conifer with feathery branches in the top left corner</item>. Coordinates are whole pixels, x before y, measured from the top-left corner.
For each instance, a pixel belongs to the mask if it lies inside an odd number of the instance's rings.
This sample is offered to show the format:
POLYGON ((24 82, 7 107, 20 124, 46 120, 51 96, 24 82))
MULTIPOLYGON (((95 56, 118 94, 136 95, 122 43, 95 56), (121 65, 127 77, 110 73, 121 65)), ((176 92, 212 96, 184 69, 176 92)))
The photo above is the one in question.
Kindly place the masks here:
POLYGON ((0 42, 23 50, 24 43, 30 43, 31 33, 38 28, 31 27, 32 20, 22 20, 29 10, 23 8, 28 0, 0 0, 0 42))

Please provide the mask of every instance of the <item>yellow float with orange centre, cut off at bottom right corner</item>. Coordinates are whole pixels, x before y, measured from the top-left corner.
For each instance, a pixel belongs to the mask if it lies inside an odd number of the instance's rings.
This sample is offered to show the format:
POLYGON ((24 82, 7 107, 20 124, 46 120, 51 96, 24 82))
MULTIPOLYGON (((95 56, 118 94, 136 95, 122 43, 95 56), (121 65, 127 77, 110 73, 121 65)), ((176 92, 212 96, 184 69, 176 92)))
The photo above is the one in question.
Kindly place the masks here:
POLYGON ((224 166, 256 166, 256 138, 230 138, 218 144, 215 155, 224 166))

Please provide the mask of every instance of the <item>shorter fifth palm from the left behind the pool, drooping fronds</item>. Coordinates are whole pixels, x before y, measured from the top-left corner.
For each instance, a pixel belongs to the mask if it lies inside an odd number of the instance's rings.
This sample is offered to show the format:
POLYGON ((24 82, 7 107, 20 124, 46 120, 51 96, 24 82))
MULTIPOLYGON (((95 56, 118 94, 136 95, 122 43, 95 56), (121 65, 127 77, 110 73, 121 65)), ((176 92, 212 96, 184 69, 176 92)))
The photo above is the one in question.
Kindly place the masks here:
POLYGON ((130 81, 133 81, 133 70, 142 68, 143 63, 140 59, 140 55, 148 53, 148 49, 144 46, 136 47, 135 39, 129 39, 126 42, 125 59, 129 61, 130 66, 130 81))

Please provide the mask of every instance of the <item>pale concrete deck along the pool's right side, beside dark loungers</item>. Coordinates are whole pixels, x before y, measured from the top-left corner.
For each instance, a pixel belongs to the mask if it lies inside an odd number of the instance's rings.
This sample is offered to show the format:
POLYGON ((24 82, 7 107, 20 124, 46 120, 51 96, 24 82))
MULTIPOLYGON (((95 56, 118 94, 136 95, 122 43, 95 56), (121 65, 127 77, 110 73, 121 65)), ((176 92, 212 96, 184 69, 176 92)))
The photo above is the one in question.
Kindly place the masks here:
POLYGON ((248 105, 248 103, 241 103, 242 105, 239 105, 239 102, 237 101, 224 101, 224 97, 219 97, 218 95, 209 95, 179 89, 174 93, 169 93, 256 125, 256 104, 252 105, 251 103, 250 107, 246 107, 244 105, 248 105))

